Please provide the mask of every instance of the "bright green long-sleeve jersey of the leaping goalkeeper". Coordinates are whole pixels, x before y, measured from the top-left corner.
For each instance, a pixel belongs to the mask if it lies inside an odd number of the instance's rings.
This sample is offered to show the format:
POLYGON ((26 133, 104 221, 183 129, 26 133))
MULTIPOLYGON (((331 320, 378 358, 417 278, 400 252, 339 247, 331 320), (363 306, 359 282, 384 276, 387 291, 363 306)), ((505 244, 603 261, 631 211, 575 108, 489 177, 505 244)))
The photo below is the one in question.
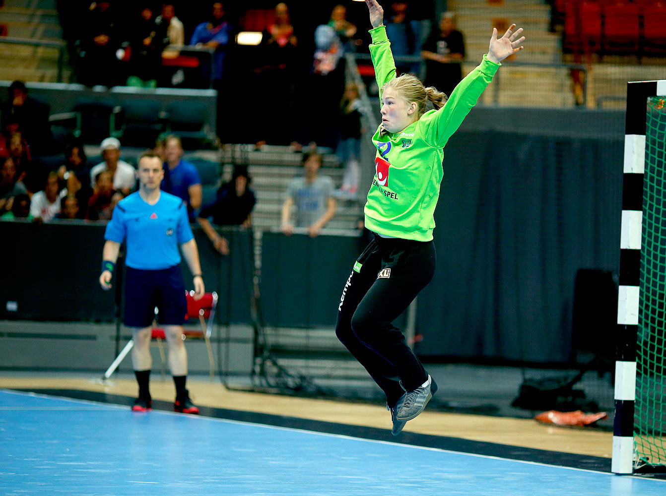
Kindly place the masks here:
MULTIPOLYGON (((396 77, 396 65, 386 28, 371 29, 370 34, 370 55, 381 89, 396 77)), ((481 65, 456 86, 441 109, 424 113, 400 132, 382 132, 380 124, 372 136, 377 152, 375 176, 364 208, 368 229, 394 238, 432 240, 444 146, 499 67, 484 55, 481 65)))

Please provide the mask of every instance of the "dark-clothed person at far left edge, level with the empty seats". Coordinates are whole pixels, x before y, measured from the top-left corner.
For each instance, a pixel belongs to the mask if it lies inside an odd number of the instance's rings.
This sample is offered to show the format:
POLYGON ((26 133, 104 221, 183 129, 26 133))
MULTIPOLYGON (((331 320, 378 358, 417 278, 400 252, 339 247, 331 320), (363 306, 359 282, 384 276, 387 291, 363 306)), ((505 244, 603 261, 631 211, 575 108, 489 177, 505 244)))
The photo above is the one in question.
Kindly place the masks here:
POLYGON ((48 148, 52 138, 49 106, 30 97, 22 81, 9 85, 9 100, 1 109, 0 126, 7 137, 21 132, 23 138, 36 144, 40 151, 48 148))

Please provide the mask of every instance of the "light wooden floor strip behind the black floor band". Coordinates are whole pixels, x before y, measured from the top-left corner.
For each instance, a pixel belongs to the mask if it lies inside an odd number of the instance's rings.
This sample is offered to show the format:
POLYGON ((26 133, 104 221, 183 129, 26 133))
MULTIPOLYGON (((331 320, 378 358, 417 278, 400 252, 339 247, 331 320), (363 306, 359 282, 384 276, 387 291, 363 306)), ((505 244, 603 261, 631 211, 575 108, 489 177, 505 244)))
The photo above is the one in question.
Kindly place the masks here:
MULTIPOLYGON (((103 382, 99 375, 93 377, 83 374, 77 377, 72 377, 71 374, 62 377, 31 377, 0 373, 0 387, 80 389, 129 397, 134 397, 137 393, 137 383, 133 379, 109 379, 103 382)), ((233 391, 226 389, 219 381, 196 378, 188 379, 188 389, 194 402, 201 406, 286 415, 346 425, 391 428, 390 414, 385 407, 379 405, 233 391)), ((159 376, 151 379, 151 394, 153 399, 172 401, 172 381, 168 378, 162 380, 159 376)), ((595 429, 555 427, 542 425, 531 419, 442 413, 428 409, 409 421, 404 430, 597 457, 611 457, 613 440, 611 432, 595 429)))

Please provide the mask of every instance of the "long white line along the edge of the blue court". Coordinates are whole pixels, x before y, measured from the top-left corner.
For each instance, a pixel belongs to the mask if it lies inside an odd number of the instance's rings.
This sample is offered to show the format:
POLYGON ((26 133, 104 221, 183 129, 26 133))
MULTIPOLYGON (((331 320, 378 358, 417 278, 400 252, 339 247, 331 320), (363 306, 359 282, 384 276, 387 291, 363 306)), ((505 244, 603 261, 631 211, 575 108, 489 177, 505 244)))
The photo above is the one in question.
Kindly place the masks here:
MULTIPOLYGON (((74 403, 88 403, 91 405, 101 405, 101 406, 109 406, 109 407, 115 407, 115 409, 122 409, 122 410, 127 410, 129 411, 127 406, 121 406, 121 405, 115 405, 114 403, 101 403, 99 401, 90 401, 87 399, 73 399, 73 398, 67 398, 63 396, 49 396, 41 393, 26 393, 25 391, 11 391, 7 389, 0 389, 1 392, 5 393, 13 393, 17 395, 29 395, 29 396, 36 396, 36 397, 42 397, 45 399, 53 399, 53 398, 58 398, 58 399, 65 399, 67 401, 72 401, 74 403)), ((248 413, 254 413, 254 412, 248 412, 248 413)), ((136 414, 136 413, 135 413, 136 414)), ((382 441, 379 439, 365 439, 363 437, 353 437, 350 435, 346 434, 334 434, 334 433, 328 433, 328 432, 318 432, 318 431, 308 431, 306 429, 297 429, 295 427, 281 427, 279 425, 269 425, 265 423, 253 423, 253 422, 247 422, 247 421, 242 421, 242 420, 231 420, 231 419, 218 419, 215 417, 205 417, 202 415, 188 415, 188 414, 183 414, 183 413, 177 413, 175 411, 165 411, 165 410, 152 410, 150 412, 146 413, 141 413, 141 415, 175 415, 176 417, 180 417, 182 419, 188 419, 192 421, 214 421, 214 422, 222 422, 222 423, 234 423, 238 425, 249 425, 253 427, 262 427, 264 429, 278 429, 278 430, 283 430, 283 431, 296 431, 296 432, 302 432, 306 434, 314 434, 314 435, 320 435, 324 437, 340 437, 342 439, 352 439, 354 441, 362 441, 364 443, 380 443, 380 444, 386 444, 386 445, 392 445, 392 446, 402 446, 402 447, 408 447, 411 449, 425 449, 427 451, 438 451, 440 453, 454 453, 456 455, 466 455, 466 456, 471 456, 471 457, 476 457, 476 458, 484 458, 484 459, 492 459, 492 460, 502 460, 502 461, 510 461, 510 462, 515 462, 515 463, 527 463, 528 465, 538 465, 539 467, 554 467, 557 469, 565 469, 565 470, 574 470, 574 471, 579 471, 579 472, 589 472, 589 473, 596 473, 596 474, 601 474, 601 475, 607 475, 609 477, 615 477, 614 473, 610 472, 602 472, 598 470, 591 470, 591 469, 579 469, 575 467, 563 467, 562 465, 551 465, 549 463, 541 463, 539 461, 527 461, 527 460, 516 460, 512 458, 502 458, 494 455, 480 455, 479 453, 466 453, 465 451, 454 451, 452 449, 444 449, 444 448, 434 448, 434 447, 429 447, 429 446, 419 446, 419 445, 414 445, 414 444, 407 444, 407 443, 397 443, 396 441, 382 441)), ((300 418, 300 417, 296 417, 300 418)), ((303 419, 303 420, 310 420, 310 419, 303 419)), ((348 425, 348 424, 345 424, 348 425)), ((388 429, 387 429, 388 430, 388 429)), ((519 446, 517 446, 519 447, 519 446)), ((553 450, 539 450, 539 451, 553 451, 553 450)), ((637 477, 635 475, 623 475, 623 478, 626 477, 632 477, 633 479, 639 479, 639 480, 646 480, 645 477, 637 477)), ((651 481, 655 481, 655 483, 665 483, 666 480, 662 479, 649 479, 651 481)))

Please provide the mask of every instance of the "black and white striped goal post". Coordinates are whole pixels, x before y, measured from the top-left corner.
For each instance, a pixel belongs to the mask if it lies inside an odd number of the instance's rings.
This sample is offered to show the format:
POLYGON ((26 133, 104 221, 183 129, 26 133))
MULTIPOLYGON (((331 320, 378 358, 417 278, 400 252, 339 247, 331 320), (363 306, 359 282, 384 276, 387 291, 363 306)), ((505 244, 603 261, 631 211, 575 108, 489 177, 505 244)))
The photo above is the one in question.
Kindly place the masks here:
POLYGON ((615 352, 615 419, 611 463, 613 473, 633 471, 633 413, 636 399, 636 342, 645 172, 645 111, 647 98, 655 95, 666 95, 666 81, 637 81, 627 84, 620 277, 617 294, 619 330, 615 352))

